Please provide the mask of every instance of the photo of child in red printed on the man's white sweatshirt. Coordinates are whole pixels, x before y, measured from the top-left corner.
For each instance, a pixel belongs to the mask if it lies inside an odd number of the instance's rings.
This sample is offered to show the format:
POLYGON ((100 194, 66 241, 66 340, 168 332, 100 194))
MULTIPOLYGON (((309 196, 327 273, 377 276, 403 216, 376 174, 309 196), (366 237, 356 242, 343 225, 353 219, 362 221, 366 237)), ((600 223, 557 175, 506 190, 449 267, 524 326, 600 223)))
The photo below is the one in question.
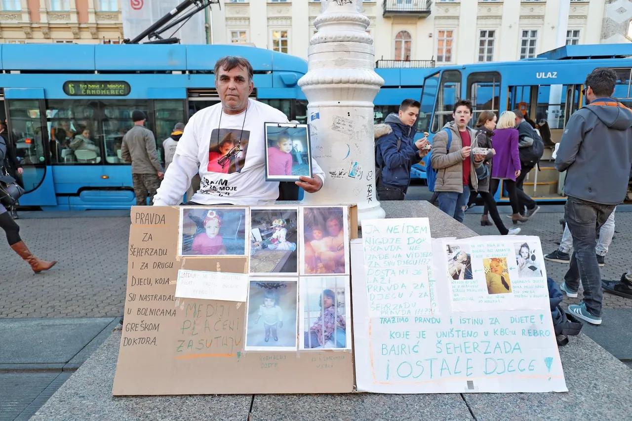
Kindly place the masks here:
POLYGON ((241 129, 214 129, 210 133, 209 172, 240 173, 246 164, 250 131, 241 129))

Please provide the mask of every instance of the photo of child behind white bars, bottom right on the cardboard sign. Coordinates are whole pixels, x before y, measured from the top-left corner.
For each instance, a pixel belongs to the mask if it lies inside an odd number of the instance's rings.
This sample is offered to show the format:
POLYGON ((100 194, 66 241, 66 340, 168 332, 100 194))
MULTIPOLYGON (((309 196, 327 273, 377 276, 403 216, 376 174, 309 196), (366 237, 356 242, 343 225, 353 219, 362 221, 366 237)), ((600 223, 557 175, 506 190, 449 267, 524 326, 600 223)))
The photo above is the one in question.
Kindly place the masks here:
POLYGON ((351 349, 349 277, 300 279, 301 350, 351 349))

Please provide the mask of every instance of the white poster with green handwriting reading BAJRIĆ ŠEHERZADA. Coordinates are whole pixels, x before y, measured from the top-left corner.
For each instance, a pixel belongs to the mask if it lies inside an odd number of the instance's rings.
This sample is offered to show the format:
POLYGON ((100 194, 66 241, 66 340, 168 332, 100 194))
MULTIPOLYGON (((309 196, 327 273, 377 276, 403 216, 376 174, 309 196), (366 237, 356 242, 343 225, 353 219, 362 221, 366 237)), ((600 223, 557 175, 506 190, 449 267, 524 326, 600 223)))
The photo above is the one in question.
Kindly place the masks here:
MULTIPOLYGON (((425 218, 407 221, 410 226, 427 225, 425 218)), ((434 291, 430 314, 415 314, 418 308, 428 308, 428 300, 425 296, 411 296, 410 291, 401 294, 402 278, 394 277, 385 278, 382 288, 399 284, 396 297, 404 300, 408 296, 408 302, 399 304, 411 312, 384 317, 376 314, 375 308, 392 303, 392 297, 371 297, 375 277, 367 276, 368 265, 376 264, 370 263, 373 252, 367 250, 367 245, 384 241, 377 238, 387 238, 381 229, 384 224, 389 232, 388 226, 401 226, 402 220, 363 221, 363 239, 351 242, 358 391, 568 391, 537 237, 432 240, 433 268, 428 271, 431 279, 423 274, 412 277, 413 284, 428 279, 430 291, 434 291), (364 227, 372 224, 382 224, 379 233, 365 231, 364 227), (530 246, 528 253, 524 247, 521 250, 525 243, 530 246), (463 255, 467 250, 468 257, 463 255), (489 296, 483 295, 483 286, 489 296)), ((387 260, 392 260, 392 256, 377 259, 377 264, 387 260)), ((404 278, 407 287, 408 282, 404 278)))

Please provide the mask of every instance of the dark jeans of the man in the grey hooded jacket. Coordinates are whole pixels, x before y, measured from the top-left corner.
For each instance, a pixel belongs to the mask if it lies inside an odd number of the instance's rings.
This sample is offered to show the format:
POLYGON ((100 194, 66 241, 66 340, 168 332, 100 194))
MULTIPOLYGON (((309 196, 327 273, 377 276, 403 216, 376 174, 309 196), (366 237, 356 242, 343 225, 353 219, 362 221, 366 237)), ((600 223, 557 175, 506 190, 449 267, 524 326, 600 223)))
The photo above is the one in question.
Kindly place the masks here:
POLYGON ((597 246, 597 230, 601 229, 616 205, 602 205, 586 202, 576 197, 568 197, 564 206, 564 217, 573 236, 573 257, 571 267, 564 275, 564 283, 571 290, 577 291, 581 284, 584 287, 586 310, 600 317, 604 292, 601 289, 601 274, 595 247, 597 246))

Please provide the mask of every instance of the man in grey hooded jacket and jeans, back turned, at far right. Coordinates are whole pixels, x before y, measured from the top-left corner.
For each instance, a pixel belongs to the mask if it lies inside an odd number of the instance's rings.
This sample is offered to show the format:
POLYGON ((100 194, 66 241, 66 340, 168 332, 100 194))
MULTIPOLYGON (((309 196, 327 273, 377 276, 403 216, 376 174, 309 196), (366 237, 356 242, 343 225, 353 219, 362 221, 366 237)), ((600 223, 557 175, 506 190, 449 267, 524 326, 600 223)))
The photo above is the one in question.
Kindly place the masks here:
POLYGON ((566 123, 555 167, 566 171, 566 224, 573 236, 571 267, 562 291, 576 297, 581 283, 583 301, 568 310, 591 324, 601 324, 602 284, 595 255, 597 230, 628 191, 632 166, 632 110, 611 98, 617 73, 593 70, 586 77, 585 107, 566 123))

